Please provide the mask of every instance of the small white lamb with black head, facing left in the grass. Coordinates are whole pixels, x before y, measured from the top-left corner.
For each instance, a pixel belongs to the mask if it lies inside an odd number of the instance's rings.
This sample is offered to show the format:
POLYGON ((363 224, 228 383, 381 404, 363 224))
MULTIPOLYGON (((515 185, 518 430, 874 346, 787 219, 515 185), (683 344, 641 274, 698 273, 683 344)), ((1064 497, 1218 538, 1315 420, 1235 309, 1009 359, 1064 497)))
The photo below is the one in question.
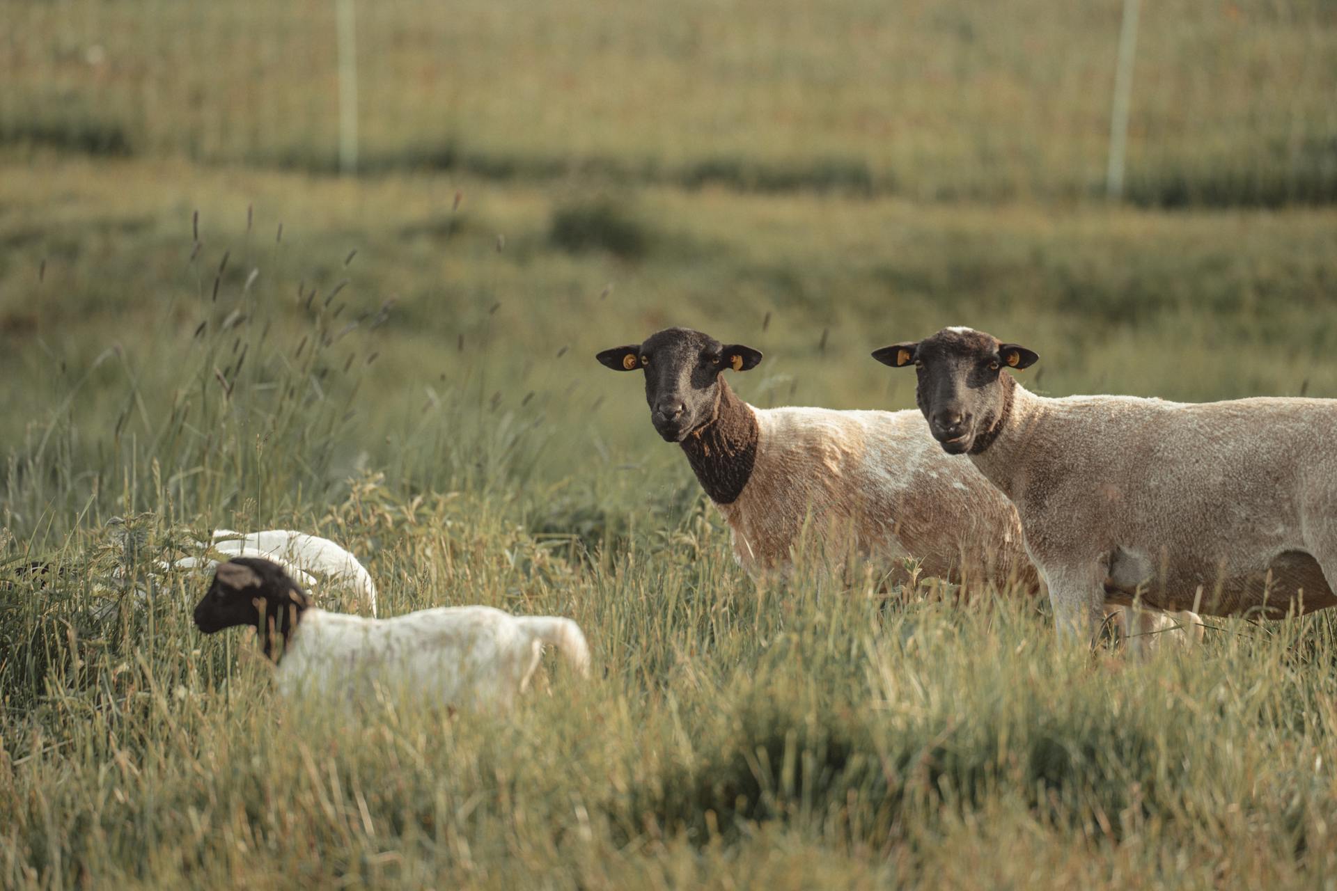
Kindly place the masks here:
POLYGON ((275 665, 279 692, 368 701, 376 687, 424 695, 451 708, 509 709, 556 647, 580 677, 590 648, 580 627, 552 616, 511 616, 491 606, 439 606, 394 618, 317 609, 306 592, 262 557, 219 564, 195 606, 206 635, 253 625, 275 665))

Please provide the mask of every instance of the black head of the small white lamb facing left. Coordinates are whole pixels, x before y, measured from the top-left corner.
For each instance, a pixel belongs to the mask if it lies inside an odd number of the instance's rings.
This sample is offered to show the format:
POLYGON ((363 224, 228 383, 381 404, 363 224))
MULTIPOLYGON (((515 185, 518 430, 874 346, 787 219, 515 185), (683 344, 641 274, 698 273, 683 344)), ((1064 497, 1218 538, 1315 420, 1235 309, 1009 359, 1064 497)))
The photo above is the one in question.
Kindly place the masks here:
POLYGON ((277 659, 283 643, 312 605, 301 585, 278 564, 261 557, 233 557, 219 564, 214 584, 195 605, 195 627, 213 635, 234 625, 253 625, 265 655, 277 659))

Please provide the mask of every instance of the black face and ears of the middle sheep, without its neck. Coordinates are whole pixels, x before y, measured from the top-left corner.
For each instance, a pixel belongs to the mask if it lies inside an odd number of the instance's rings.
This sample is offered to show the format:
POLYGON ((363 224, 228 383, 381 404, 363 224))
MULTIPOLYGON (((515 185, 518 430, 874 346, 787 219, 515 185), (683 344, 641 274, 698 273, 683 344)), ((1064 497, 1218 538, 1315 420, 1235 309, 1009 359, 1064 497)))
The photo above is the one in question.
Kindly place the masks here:
POLYGON ((595 357, 614 371, 646 373, 650 421, 667 442, 682 442, 707 423, 719 401, 726 369, 757 367, 761 353, 742 343, 721 343, 691 329, 656 331, 640 345, 619 346, 595 357))

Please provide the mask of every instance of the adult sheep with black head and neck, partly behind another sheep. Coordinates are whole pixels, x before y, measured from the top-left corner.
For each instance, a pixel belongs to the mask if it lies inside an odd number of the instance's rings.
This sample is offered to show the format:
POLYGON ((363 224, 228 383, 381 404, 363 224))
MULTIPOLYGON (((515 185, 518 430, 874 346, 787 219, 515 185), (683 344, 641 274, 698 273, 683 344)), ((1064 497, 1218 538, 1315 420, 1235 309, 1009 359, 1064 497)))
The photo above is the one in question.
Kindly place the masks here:
POLYGON ((747 371, 762 354, 689 329, 595 358, 644 371, 655 430, 687 456, 753 577, 789 572, 810 521, 828 558, 853 549, 894 566, 913 556, 928 576, 981 570, 1038 584, 1016 512, 968 462, 941 453, 919 413, 757 409, 723 373, 747 371))

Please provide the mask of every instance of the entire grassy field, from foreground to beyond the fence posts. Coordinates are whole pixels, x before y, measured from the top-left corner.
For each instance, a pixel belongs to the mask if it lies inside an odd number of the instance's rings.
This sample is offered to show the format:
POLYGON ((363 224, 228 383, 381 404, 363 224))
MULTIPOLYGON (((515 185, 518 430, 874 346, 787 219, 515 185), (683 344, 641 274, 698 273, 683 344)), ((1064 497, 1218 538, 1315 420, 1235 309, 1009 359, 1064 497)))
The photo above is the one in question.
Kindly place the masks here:
POLYGON ((758 588, 592 358, 900 409, 868 353, 967 323, 1050 394, 1337 397, 1337 7, 1144 4, 1111 202, 1123 8, 0 0, 0 883, 1322 884, 1330 620, 1091 668, 1016 592, 758 588), (303 729, 199 580, 134 606, 214 526, 607 675, 303 729))

